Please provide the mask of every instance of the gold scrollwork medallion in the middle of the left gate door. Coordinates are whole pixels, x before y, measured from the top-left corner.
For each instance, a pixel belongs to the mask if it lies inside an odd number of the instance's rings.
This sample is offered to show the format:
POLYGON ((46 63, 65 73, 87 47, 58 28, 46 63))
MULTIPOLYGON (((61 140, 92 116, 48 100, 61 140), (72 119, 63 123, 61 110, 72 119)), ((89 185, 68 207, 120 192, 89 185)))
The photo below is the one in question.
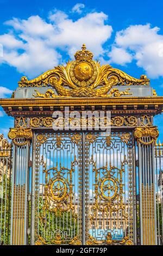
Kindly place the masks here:
MULTIPOLYGON (((74 166, 77 165, 76 157, 71 162, 71 169, 62 167, 58 169, 56 167, 47 169, 46 162, 43 161, 43 156, 40 164, 43 166, 43 172, 45 173, 45 198, 43 199, 43 216, 46 215, 46 210, 54 212, 56 215, 61 215, 62 212, 73 210, 73 184, 72 173, 74 172, 74 166), (53 173, 53 177, 49 178, 49 173, 53 173), (65 171, 68 176, 65 178, 65 171)), ((74 214, 75 215, 75 214, 74 214)), ((42 217, 40 217, 42 218, 42 217)))

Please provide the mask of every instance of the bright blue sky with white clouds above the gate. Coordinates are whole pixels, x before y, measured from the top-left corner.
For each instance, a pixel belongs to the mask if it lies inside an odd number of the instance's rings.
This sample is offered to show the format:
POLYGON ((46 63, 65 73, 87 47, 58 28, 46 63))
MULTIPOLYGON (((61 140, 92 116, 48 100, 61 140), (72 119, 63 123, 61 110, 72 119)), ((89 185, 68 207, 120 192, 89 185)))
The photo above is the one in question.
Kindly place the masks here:
MULTIPOLYGON (((147 74, 163 95, 162 9, 161 0, 0 0, 0 97, 10 97, 22 75, 33 78, 72 59, 83 43, 101 63, 137 78, 147 74)), ((13 119, 0 109, 0 121, 7 136, 13 119)), ((162 121, 155 118, 163 139, 162 121)))

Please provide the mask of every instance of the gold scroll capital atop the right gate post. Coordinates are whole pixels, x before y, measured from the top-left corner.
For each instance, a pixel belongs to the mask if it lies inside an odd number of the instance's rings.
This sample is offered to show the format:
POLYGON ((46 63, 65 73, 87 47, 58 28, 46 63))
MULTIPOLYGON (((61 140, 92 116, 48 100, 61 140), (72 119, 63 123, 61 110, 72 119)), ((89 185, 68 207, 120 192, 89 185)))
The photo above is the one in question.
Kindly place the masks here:
POLYGON ((136 127, 134 131, 134 137, 137 139, 137 144, 141 143, 143 145, 151 145, 156 142, 159 136, 159 131, 157 126, 152 127, 136 127), (150 141, 145 141, 145 138, 151 138, 150 141))

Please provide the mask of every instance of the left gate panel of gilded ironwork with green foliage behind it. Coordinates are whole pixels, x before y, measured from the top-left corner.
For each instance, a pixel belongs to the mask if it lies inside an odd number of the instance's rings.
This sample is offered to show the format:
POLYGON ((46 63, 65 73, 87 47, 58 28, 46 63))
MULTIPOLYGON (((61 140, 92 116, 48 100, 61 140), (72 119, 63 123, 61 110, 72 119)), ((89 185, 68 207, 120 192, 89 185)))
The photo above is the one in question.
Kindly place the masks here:
POLYGON ((82 240, 82 134, 35 133, 32 243, 82 240))

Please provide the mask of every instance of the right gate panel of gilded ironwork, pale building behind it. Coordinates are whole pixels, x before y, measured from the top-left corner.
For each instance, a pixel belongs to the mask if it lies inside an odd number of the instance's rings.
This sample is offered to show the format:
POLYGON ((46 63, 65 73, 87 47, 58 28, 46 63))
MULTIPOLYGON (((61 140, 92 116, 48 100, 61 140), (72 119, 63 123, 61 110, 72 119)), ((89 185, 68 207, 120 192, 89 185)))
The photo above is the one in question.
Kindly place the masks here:
POLYGON ((85 240, 91 244, 134 241, 132 133, 87 133, 85 240))

